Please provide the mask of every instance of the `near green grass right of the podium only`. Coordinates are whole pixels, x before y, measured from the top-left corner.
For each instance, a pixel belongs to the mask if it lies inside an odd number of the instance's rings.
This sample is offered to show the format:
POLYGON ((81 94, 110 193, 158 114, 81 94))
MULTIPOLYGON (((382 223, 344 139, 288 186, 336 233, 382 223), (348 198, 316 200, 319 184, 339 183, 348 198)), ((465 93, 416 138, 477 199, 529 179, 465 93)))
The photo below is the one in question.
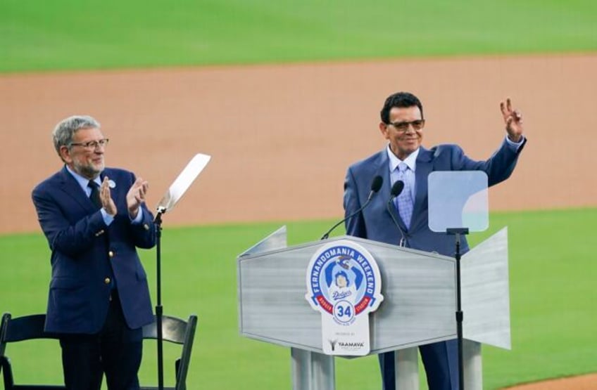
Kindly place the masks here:
POLYGON ((597 209, 493 216, 491 231, 508 226, 513 350, 484 349, 488 388, 595 371, 596 220, 597 209))

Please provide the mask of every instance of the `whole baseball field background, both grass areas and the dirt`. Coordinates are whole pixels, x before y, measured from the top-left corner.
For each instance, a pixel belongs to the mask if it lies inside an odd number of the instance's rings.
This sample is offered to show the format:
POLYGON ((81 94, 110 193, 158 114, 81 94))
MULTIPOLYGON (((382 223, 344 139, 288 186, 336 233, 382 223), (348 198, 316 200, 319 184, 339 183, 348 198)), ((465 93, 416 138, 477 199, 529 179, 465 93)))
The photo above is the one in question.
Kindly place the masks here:
MULTIPOLYGON (((296 244, 341 218, 346 167, 383 147, 390 93, 421 98, 425 145, 477 159, 501 142, 510 96, 529 141, 470 238, 508 226, 513 350, 484 348, 484 388, 597 389, 596 26, 584 0, 0 1, 0 311, 45 311, 30 192, 61 168, 54 124, 89 114, 106 163, 149 180, 150 209, 195 153, 213 156, 164 216, 165 313, 199 316, 188 388, 287 389, 289 351, 239 336, 237 254, 281 225, 296 244)), ((155 257, 142 252, 151 282, 155 257)), ((15 377, 61 381, 56 343, 7 354, 15 377)), ((375 357, 336 366, 337 388, 379 389, 375 357)))

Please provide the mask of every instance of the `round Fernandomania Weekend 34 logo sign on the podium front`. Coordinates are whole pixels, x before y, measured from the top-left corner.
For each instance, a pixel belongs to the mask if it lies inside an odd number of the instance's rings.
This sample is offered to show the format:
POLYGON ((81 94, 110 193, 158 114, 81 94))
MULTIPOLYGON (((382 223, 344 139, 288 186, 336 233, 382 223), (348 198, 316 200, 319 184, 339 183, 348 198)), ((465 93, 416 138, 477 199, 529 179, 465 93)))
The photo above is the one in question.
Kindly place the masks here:
POLYGON ((369 316, 384 297, 373 256, 350 240, 322 245, 306 274, 307 301, 321 313, 322 349, 328 355, 369 353, 369 316))

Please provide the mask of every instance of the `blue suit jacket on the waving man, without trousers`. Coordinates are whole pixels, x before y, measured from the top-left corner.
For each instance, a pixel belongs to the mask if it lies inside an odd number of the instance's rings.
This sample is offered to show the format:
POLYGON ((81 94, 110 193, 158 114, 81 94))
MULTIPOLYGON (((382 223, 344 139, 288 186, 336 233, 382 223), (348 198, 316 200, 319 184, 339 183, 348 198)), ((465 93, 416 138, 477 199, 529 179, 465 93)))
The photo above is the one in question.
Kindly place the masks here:
MULTIPOLYGON (((526 143, 526 140, 524 141, 526 143)), ((437 252, 448 256, 455 250, 453 236, 445 233, 434 233, 429 230, 427 219, 427 176, 432 171, 485 171, 489 178, 489 186, 493 186, 512 174, 522 145, 515 152, 504 141, 501 147, 489 160, 475 161, 465 156, 458 145, 439 145, 432 149, 420 148, 415 171, 415 204, 410 228, 406 228, 395 207, 391 212, 398 221, 407 246, 427 252, 437 252)), ((371 190, 371 181, 375 176, 384 179, 379 193, 375 194, 371 203, 362 213, 346 221, 346 233, 360 238, 398 245, 401 232, 387 210, 390 198, 391 182, 387 149, 372 155, 365 160, 351 165, 344 181, 344 211, 350 215, 367 200, 371 190)), ((468 249, 463 240, 462 252, 468 249)))

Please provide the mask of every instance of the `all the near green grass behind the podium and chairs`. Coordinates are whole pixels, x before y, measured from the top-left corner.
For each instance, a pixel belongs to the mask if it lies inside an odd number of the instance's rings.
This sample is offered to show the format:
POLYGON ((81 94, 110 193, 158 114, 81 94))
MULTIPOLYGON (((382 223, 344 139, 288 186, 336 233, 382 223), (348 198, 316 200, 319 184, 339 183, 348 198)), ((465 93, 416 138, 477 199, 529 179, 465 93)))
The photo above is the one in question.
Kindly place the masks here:
MULTIPOLYGON (((513 351, 484 348, 486 389, 546 377, 576 375, 597 367, 595 310, 597 266, 593 240, 597 209, 510 212, 492 215, 491 228, 474 244, 508 226, 513 351)), ((317 240, 332 221, 288 223, 289 244, 317 240)), ((202 226, 163 230, 165 313, 199 316, 189 389, 288 389, 289 350, 239 336, 236 256, 280 223, 202 226)), ((336 232, 340 234, 341 232, 336 232)), ((13 316, 45 310, 49 250, 39 234, 0 237, 0 311, 13 316)), ((142 257, 152 284, 155 252, 142 257)), ((152 296, 155 290, 152 286, 152 296)), ((8 347, 15 375, 32 382, 60 381, 56 343, 8 347)), ((28 345, 27 345, 28 344, 28 345)), ((156 383, 155 343, 145 344, 141 377, 156 383)), ((167 359, 176 351, 165 350, 167 359)), ((166 367, 172 381, 172 367, 166 367)), ((379 389, 375 356, 337 359, 337 387, 379 389)), ((422 386, 425 389, 425 386, 422 386)))

